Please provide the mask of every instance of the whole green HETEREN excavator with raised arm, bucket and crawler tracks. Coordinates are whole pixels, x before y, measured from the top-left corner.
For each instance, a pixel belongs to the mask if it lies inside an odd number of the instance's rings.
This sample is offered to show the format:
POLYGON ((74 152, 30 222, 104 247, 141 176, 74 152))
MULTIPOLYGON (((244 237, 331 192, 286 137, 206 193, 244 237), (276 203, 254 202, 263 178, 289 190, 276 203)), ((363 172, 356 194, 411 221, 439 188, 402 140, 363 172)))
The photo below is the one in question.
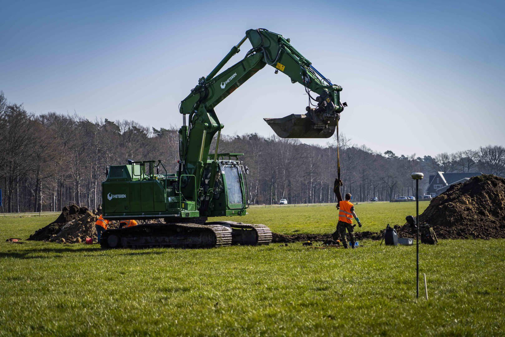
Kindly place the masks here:
POLYGON ((179 130, 179 161, 169 173, 158 161, 132 161, 111 165, 102 183, 103 216, 108 220, 163 219, 108 229, 102 248, 219 247, 232 244, 264 245, 272 240, 265 225, 234 221, 207 221, 208 217, 246 215, 248 168, 240 153, 219 153, 224 125, 214 108, 266 65, 300 83, 309 95, 305 114, 265 118, 282 138, 328 138, 335 132, 342 87, 316 70, 290 44, 289 38, 266 29, 249 29, 207 77, 201 77, 181 101, 183 125, 179 130), (218 72, 249 40, 252 48, 230 68, 218 72), (313 97, 316 96, 315 98, 313 97), (311 106, 312 105, 312 106, 311 106), (217 136, 216 136, 217 134, 217 136), (210 153, 215 140, 215 151, 210 153))

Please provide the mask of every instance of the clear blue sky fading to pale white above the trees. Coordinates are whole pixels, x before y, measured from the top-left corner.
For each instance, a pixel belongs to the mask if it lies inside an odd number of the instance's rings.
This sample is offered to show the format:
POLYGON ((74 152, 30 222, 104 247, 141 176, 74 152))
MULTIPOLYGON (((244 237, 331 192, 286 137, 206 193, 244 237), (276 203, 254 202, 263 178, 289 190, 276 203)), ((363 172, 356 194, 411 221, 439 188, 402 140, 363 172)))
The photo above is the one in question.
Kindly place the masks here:
MULTIPOLYGON (((197 79, 261 27, 343 87, 341 128, 359 145, 420 156, 505 145, 503 2, 0 5, 0 90, 31 112, 180 125, 178 104, 197 79)), ((306 106, 304 88, 267 66, 216 112, 225 134, 269 135, 263 118, 306 106)))

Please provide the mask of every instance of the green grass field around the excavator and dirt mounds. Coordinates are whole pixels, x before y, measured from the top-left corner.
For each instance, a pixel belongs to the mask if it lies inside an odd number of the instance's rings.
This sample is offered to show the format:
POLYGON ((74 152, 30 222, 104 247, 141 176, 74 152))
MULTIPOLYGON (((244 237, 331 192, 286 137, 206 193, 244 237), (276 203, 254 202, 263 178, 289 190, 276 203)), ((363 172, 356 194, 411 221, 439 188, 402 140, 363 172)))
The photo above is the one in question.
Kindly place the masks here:
MULTIPOLYGON (((374 231, 402 224, 414 208, 356 211, 361 229, 374 231)), ((415 297, 415 247, 370 240, 356 250, 4 242, 54 218, 0 217, 1 335, 505 334, 505 240, 422 245, 427 301, 415 297)), ((240 220, 290 234, 331 232, 335 218, 333 206, 322 206, 251 208, 240 220)))

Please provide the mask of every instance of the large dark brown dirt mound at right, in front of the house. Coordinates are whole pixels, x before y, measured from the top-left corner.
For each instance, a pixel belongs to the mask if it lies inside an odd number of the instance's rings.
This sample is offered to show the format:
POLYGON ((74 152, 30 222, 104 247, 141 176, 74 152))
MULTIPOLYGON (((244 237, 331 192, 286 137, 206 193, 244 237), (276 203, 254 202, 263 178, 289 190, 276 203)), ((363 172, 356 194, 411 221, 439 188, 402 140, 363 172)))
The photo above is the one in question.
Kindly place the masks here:
MULTIPOLYGON (((505 238, 505 179, 481 175, 452 185, 419 216, 438 238, 505 238)), ((413 237, 403 226, 399 236, 413 237)))

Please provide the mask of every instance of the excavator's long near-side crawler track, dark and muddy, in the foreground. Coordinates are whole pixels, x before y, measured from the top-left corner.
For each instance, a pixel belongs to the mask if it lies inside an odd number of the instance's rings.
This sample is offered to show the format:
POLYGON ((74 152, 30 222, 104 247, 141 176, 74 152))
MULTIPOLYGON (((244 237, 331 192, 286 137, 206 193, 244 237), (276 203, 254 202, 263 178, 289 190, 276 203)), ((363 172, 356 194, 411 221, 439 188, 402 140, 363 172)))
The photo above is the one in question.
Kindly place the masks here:
POLYGON ((213 248, 231 244, 232 233, 227 227, 192 223, 153 223, 109 229, 100 239, 102 248, 213 248))

